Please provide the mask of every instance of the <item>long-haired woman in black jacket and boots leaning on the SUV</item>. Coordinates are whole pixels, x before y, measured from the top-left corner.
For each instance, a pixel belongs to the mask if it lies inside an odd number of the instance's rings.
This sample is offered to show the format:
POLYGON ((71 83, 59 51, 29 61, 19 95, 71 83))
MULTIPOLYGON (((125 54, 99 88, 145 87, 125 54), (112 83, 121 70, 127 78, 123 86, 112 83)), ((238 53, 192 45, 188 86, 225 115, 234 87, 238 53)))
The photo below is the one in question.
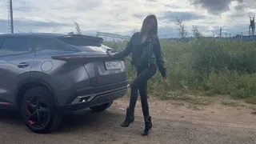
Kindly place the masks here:
POLYGON ((158 21, 152 14, 145 18, 140 32, 133 34, 126 49, 118 54, 107 54, 114 59, 122 59, 132 54, 132 64, 137 68, 137 78, 130 84, 130 106, 126 110, 126 119, 120 126, 128 127, 134 122, 134 108, 138 99, 138 90, 141 96, 142 111, 145 120, 145 129, 142 136, 149 134, 152 122, 147 102, 147 80, 160 70, 165 82, 167 72, 162 59, 162 51, 158 40, 158 21))

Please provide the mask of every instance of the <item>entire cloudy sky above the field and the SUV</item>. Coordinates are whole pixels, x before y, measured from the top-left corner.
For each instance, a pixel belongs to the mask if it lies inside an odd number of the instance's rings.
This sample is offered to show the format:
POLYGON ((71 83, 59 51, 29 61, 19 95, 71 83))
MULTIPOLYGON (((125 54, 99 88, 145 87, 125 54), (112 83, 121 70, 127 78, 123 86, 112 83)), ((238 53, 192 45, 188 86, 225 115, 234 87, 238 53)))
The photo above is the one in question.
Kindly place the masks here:
MULTIPOLYGON (((7 29, 7 1, 0 2, 0 34, 7 29)), ((14 32, 96 31, 130 36, 147 14, 158 18, 159 37, 177 37, 176 17, 191 34, 192 26, 206 35, 248 34, 249 14, 256 14, 256 0, 13 0, 14 32)))

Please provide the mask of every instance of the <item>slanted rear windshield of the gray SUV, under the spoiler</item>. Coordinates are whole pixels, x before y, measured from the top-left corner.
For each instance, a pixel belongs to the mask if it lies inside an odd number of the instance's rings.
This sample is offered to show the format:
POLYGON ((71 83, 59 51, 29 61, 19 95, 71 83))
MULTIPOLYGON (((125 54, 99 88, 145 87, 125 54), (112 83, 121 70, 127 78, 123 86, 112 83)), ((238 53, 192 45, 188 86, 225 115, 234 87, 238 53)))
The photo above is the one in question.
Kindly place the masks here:
POLYGON ((62 42, 67 45, 74 47, 75 49, 83 52, 100 52, 106 53, 108 46, 104 46, 102 43, 97 41, 88 40, 87 38, 59 38, 62 42))

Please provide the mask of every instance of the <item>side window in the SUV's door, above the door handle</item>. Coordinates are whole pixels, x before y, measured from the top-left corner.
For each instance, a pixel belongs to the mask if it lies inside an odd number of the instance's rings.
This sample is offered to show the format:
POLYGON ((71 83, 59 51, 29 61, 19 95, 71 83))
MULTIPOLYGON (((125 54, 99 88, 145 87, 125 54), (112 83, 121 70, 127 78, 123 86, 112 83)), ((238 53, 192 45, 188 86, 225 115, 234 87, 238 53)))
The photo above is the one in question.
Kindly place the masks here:
POLYGON ((30 38, 5 38, 0 48, 0 56, 25 54, 32 50, 30 38))

